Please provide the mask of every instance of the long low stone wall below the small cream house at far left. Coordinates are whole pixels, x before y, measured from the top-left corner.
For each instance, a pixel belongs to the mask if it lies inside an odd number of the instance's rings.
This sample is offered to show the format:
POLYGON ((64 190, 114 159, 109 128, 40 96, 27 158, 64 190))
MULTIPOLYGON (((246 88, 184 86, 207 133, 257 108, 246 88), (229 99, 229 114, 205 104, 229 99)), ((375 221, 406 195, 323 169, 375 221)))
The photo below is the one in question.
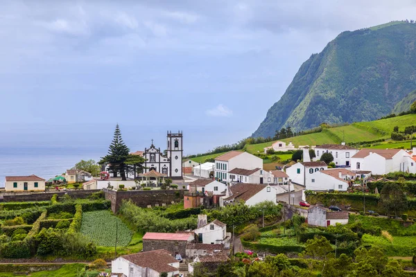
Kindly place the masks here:
POLYGON ((67 193, 71 198, 87 198, 92 193, 96 193, 101 190, 66 190, 66 191, 54 191, 48 193, 29 193, 29 194, 15 194, 15 195, 3 195, 3 202, 28 202, 28 201, 49 201, 53 195, 58 197, 67 193))

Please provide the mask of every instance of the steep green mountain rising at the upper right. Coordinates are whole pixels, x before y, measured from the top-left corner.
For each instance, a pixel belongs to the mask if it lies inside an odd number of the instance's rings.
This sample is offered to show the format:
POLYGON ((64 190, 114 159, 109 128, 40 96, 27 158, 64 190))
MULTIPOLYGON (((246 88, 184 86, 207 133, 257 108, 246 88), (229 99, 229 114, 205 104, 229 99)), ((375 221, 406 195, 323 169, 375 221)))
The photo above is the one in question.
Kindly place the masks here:
MULTIPOLYGON (((300 66, 252 136, 390 114, 416 89, 415 42, 416 24, 405 21, 341 33, 300 66)), ((410 105, 406 101, 400 107, 410 105)))

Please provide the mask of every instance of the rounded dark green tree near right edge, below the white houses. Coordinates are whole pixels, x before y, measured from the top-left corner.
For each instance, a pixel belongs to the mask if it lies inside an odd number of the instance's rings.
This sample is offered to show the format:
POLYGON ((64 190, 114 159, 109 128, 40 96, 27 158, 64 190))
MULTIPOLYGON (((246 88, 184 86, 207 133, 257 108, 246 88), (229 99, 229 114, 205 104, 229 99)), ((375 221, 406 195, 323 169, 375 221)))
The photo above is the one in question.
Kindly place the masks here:
POLYGON ((407 199, 401 186, 395 182, 387 182, 380 193, 380 204, 388 215, 406 210, 407 199))

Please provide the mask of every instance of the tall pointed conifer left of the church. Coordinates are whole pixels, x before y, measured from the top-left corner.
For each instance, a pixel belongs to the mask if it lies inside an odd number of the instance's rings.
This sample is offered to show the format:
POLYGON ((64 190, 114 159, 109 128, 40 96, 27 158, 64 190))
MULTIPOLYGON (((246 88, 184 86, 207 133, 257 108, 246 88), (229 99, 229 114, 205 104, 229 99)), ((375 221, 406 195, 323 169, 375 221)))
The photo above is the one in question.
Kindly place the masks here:
POLYGON ((129 152, 130 149, 124 144, 123 139, 121 138, 119 124, 117 124, 114 131, 114 138, 108 148, 107 156, 101 158, 99 163, 108 163, 110 165, 110 172, 114 173, 114 176, 117 175, 117 172, 120 172, 121 180, 125 181, 125 161, 128 160, 130 156, 129 152))

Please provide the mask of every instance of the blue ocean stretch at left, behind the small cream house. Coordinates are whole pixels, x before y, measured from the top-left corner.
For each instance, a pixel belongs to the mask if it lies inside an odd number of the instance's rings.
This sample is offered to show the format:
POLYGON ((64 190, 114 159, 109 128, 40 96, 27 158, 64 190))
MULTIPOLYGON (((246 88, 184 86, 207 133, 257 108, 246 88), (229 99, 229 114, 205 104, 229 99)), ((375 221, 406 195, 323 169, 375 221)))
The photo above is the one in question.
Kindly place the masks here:
POLYGON ((44 179, 61 175, 78 161, 99 161, 107 148, 0 147, 0 187, 6 176, 37 175, 44 179))

